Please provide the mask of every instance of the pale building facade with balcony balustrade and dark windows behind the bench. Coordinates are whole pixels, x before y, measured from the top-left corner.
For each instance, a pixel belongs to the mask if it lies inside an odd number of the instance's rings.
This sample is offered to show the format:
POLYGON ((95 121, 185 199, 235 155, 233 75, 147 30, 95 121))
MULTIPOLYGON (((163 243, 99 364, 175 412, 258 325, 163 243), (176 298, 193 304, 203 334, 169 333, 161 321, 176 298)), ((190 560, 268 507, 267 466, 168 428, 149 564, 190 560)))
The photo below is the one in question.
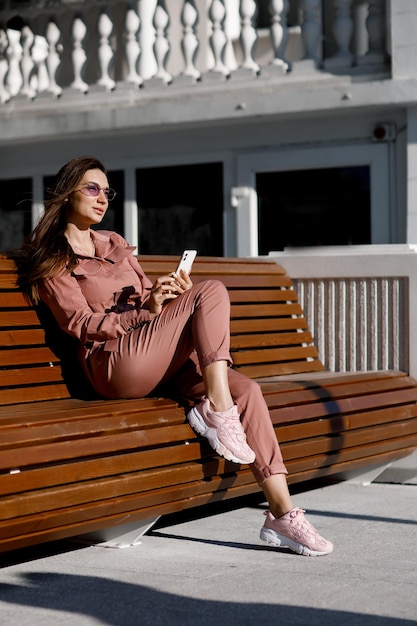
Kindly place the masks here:
POLYGON ((417 242, 417 0, 0 1, 0 250, 68 159, 140 253, 417 242))

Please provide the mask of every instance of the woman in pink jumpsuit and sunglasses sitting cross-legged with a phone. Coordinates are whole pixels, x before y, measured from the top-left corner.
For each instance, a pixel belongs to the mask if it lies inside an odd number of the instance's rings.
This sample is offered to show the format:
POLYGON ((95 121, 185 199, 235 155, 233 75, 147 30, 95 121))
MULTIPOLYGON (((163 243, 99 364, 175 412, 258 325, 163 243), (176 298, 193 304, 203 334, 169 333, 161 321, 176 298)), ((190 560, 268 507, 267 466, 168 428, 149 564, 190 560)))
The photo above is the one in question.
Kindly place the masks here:
POLYGON ((64 165, 23 248, 26 293, 78 340, 80 363, 99 395, 163 390, 196 403, 191 426, 221 456, 249 463, 268 500, 262 540, 298 554, 328 554, 332 544, 292 503, 260 387, 230 367, 226 288, 216 280, 193 285, 184 272, 152 284, 122 237, 90 228, 114 195, 99 160, 64 165))

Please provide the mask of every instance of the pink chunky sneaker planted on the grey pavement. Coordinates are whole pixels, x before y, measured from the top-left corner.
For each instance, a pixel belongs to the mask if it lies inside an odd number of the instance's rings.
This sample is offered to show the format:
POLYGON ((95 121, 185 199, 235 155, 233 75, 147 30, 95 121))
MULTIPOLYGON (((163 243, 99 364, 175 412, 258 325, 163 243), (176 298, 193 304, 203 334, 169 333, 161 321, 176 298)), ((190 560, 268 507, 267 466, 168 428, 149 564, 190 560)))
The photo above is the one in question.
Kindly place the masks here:
POLYGON ((303 509, 295 508, 274 517, 265 511, 265 524, 261 529, 261 539, 281 548, 289 548, 303 556, 322 556, 333 551, 333 544, 320 537, 317 530, 304 517, 303 509))

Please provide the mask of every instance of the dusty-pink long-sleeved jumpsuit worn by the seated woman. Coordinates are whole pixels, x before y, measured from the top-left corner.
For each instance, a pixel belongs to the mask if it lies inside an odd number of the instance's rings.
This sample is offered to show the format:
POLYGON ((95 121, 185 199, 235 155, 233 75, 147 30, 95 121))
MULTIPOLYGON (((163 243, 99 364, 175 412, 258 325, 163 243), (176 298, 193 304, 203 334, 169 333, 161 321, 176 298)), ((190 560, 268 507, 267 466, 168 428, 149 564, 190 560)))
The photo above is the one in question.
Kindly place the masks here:
MULTIPOLYGON (((95 391, 107 398, 171 395, 199 402, 205 389, 200 365, 230 356, 230 300, 223 283, 206 280, 169 301, 150 320, 152 283, 133 248, 116 233, 92 231, 96 257, 79 255, 41 286, 41 298, 60 327, 76 337, 80 359, 95 391)), ((271 418, 259 385, 229 368, 229 385, 259 484, 286 474, 271 418)))

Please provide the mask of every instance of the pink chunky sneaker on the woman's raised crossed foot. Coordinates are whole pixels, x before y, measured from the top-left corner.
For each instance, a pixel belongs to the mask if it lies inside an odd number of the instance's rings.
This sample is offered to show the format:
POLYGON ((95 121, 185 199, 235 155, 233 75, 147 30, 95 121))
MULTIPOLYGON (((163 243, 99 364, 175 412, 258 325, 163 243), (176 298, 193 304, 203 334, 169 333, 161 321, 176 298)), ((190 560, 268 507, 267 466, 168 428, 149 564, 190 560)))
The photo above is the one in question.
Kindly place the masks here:
POLYGON ((202 398, 187 415, 192 428, 208 439, 211 447, 233 463, 253 463, 255 453, 246 443, 246 435, 240 422, 237 406, 228 411, 211 411, 208 398, 202 398))

